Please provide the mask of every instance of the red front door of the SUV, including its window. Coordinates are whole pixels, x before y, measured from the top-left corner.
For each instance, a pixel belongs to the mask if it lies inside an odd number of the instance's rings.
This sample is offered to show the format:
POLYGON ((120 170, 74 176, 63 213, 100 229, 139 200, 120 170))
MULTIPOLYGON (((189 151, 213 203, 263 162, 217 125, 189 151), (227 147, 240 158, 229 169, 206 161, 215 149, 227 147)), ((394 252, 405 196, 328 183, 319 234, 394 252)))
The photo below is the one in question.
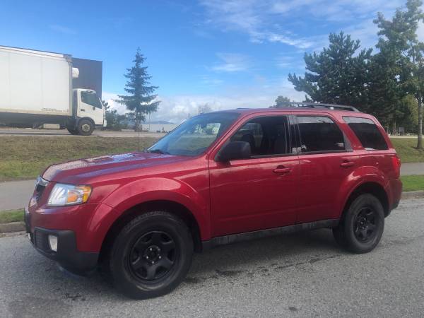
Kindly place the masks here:
POLYGON ((292 126, 283 115, 247 119, 230 141, 248 142, 252 157, 209 159, 214 237, 295 223, 299 165, 292 126))

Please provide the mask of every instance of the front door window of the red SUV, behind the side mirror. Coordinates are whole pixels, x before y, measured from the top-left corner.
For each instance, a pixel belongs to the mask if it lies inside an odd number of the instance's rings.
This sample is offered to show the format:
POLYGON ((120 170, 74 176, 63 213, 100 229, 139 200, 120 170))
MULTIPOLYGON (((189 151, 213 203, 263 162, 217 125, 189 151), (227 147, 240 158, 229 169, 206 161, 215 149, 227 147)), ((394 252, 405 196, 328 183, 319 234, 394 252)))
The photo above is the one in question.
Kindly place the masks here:
POLYGON ((291 153, 288 118, 285 116, 257 117, 242 126, 231 141, 246 141, 252 156, 291 153))

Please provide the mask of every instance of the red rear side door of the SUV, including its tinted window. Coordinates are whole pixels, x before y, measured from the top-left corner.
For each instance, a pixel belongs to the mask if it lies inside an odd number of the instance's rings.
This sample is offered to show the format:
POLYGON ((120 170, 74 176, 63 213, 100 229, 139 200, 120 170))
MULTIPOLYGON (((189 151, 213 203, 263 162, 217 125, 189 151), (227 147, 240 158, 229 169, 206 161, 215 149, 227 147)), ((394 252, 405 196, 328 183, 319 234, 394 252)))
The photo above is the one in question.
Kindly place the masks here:
POLYGON ((330 114, 298 114, 300 205, 298 223, 337 218, 336 198, 358 165, 341 128, 330 114))

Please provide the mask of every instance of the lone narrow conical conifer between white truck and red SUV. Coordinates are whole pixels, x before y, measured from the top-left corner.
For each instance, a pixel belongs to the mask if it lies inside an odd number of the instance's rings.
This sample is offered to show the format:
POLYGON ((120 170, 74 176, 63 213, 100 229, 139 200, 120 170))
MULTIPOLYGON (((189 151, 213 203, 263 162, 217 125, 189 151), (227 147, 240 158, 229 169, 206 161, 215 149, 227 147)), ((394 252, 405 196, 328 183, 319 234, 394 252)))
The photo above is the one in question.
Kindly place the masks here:
POLYGON ((129 95, 118 95, 117 102, 126 106, 129 110, 129 118, 135 122, 134 129, 141 129, 141 122, 146 120, 146 115, 158 110, 160 101, 155 100, 158 95, 154 95, 158 86, 150 86, 151 76, 147 73, 147 66, 142 66, 145 61, 140 48, 137 49, 134 59, 134 66, 126 69, 128 73, 124 76, 128 78, 124 90, 129 95))

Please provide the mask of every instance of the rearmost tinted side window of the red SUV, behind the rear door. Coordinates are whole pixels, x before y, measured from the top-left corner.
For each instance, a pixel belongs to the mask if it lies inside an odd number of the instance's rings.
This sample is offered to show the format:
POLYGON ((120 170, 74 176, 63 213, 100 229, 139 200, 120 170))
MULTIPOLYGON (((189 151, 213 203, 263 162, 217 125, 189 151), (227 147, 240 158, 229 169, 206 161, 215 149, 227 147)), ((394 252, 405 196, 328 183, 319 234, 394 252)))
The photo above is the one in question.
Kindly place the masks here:
POLYGON ((387 143, 377 125, 371 119, 343 117, 366 150, 387 150, 387 143))

